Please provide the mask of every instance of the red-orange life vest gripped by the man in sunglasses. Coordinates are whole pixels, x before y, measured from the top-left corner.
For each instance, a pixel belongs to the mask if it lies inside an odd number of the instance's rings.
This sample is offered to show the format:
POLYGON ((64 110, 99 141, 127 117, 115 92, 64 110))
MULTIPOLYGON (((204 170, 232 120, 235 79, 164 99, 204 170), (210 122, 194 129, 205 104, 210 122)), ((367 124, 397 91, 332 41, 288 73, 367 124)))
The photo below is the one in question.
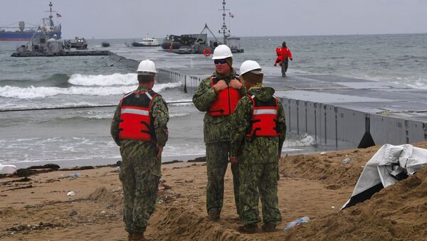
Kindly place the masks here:
MULTIPOLYGON (((236 75, 236 80, 241 82, 238 79, 238 75, 236 75)), ((218 78, 215 75, 211 76, 211 87, 216 85, 218 82, 218 78)), ((220 116, 220 115, 228 115, 233 114, 234 110, 236 109, 238 101, 241 99, 242 95, 238 92, 238 90, 227 87, 224 90, 221 90, 218 92, 218 95, 216 95, 216 99, 214 103, 209 107, 208 114, 210 114, 213 117, 220 116)))

